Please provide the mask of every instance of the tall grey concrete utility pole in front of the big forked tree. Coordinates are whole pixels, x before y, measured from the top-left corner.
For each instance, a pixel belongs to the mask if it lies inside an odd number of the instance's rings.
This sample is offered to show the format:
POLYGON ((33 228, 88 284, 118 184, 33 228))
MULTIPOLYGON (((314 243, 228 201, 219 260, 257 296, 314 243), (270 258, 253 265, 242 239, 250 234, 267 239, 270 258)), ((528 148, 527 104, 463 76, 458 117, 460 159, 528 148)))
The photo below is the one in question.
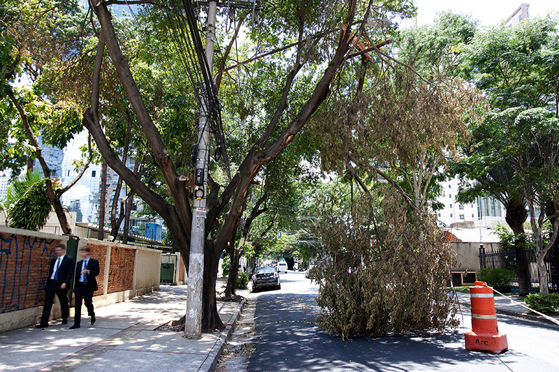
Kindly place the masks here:
MULTIPOLYGON (((205 34, 205 57, 210 66, 213 79, 215 18, 217 0, 208 2, 208 30, 205 34)), ((208 92, 203 89, 203 96, 208 92)), ((184 320, 184 335, 202 336, 202 290, 204 276, 204 244, 206 218, 206 188, 208 184, 208 162, 210 161, 210 107, 201 100, 200 120, 198 121, 198 151, 196 153, 196 173, 194 176, 194 203, 190 239, 190 262, 188 267, 187 315, 184 320)))

